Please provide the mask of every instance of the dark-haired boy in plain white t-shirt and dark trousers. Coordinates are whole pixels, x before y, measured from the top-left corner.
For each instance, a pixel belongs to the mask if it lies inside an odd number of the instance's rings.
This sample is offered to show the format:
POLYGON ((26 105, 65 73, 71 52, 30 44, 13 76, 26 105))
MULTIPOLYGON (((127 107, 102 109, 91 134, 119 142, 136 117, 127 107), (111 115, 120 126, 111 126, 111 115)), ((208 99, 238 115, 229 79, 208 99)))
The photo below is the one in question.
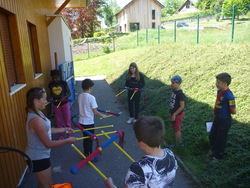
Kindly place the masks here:
MULTIPOLYGON (((94 115, 100 116, 101 118, 106 118, 106 115, 101 114, 97 111, 96 99, 90 93, 92 92, 94 82, 90 79, 85 79, 82 81, 83 92, 78 97, 79 105, 79 123, 84 129, 94 127, 94 115)), ((89 130, 94 134, 94 130, 89 130)), ((83 136, 88 136, 83 133, 83 136)), ((92 153, 93 141, 88 138, 83 140, 84 155, 88 156, 92 153)), ((92 162, 96 162, 99 159, 95 157, 92 162)))

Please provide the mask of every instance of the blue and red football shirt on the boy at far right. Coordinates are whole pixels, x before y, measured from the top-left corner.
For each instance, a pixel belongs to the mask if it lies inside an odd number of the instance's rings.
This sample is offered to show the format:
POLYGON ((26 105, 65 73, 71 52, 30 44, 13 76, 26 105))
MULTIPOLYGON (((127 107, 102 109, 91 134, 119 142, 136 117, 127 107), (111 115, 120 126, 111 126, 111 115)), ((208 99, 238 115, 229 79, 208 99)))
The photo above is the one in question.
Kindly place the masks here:
POLYGON ((217 98, 214 107, 216 117, 229 118, 231 117, 230 108, 235 108, 235 98, 230 89, 225 91, 218 90, 217 98))

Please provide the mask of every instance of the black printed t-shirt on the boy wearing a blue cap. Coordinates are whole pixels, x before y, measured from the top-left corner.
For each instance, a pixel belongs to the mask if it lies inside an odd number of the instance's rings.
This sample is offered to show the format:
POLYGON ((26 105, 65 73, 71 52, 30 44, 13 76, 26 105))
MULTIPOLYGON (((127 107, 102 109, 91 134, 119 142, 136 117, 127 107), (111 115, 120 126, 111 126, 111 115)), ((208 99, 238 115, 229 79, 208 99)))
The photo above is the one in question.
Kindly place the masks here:
MULTIPOLYGON (((177 111, 178 108, 180 108, 180 101, 184 101, 184 93, 182 90, 173 90, 170 98, 170 113, 173 114, 177 111)), ((179 114, 181 114, 183 111, 181 111, 179 114)))

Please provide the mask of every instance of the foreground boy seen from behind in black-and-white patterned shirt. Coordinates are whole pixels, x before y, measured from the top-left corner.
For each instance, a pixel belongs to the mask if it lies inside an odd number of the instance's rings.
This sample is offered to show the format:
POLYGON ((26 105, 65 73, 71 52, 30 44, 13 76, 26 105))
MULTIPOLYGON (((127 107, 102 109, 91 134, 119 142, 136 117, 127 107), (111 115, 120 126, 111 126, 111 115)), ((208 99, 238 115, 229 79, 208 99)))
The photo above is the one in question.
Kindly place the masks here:
MULTIPOLYGON (((157 117, 138 119, 133 129, 137 145, 145 152, 145 156, 132 163, 124 187, 171 187, 178 168, 174 154, 160 144, 165 134, 163 120, 157 117)), ((115 188, 111 178, 104 181, 108 188, 115 188)))

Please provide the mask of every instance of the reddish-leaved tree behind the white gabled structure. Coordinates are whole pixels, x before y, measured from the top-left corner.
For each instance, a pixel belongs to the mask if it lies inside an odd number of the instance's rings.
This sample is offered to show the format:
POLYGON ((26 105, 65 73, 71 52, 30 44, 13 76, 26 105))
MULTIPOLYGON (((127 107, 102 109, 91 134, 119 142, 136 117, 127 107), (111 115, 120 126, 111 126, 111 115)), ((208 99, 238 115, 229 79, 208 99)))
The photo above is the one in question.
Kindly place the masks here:
POLYGON ((100 7, 103 4, 103 1, 92 0, 88 1, 85 8, 65 8, 61 12, 71 29, 73 39, 93 36, 95 28, 99 26, 97 17, 102 16, 100 7))

